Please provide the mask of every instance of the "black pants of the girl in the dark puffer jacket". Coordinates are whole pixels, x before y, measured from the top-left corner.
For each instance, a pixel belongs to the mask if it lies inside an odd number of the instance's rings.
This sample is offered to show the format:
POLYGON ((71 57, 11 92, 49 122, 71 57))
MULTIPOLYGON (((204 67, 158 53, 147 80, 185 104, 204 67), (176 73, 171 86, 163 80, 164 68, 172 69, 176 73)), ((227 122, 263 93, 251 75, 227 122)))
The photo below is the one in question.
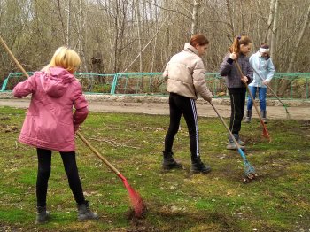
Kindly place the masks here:
POLYGON ((244 118, 245 88, 229 88, 230 96, 230 123, 229 129, 233 134, 239 134, 241 122, 244 118))

